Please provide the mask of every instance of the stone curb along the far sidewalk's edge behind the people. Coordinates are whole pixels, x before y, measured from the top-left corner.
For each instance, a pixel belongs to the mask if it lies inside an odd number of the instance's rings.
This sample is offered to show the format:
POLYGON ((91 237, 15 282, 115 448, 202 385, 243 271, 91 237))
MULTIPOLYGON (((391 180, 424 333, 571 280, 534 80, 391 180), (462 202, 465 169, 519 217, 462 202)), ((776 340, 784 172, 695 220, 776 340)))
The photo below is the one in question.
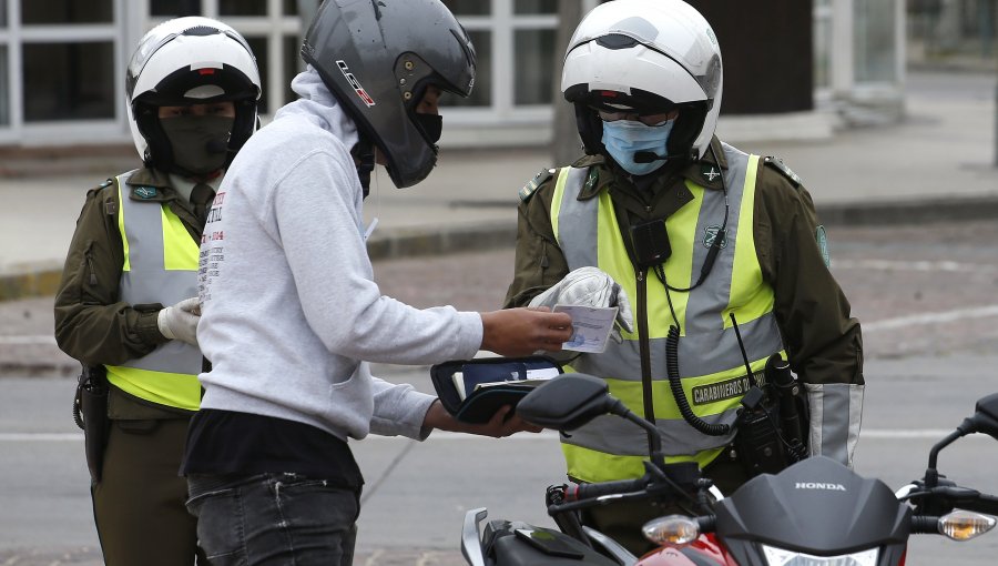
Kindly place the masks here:
MULTIPOLYGON (((864 202, 819 204, 818 215, 828 226, 878 226, 923 224, 998 218, 998 194, 989 196, 913 200, 908 202, 864 202)), ((371 261, 424 255, 442 255, 513 247, 515 222, 426 229, 385 230, 373 235, 367 247, 371 261)), ((0 301, 54 295, 62 265, 52 262, 26 265, 14 273, 0 274, 0 301)))

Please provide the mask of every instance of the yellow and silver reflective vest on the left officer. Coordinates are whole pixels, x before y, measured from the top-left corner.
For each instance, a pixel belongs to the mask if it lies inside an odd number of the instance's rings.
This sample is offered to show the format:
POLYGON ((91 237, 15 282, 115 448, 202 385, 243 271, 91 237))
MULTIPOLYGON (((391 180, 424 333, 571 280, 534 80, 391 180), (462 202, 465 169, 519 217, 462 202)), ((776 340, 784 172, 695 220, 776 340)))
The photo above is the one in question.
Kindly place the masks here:
MULTIPOLYGON (((118 228, 124 250, 121 300, 129 304, 172 305, 197 295, 198 244, 183 222, 157 201, 130 198, 119 175, 121 203, 118 228)), ((142 194, 147 188, 134 188, 142 194)), ((161 405, 197 411, 201 402, 201 351, 177 340, 161 344, 149 354, 121 365, 108 365, 108 381, 139 398, 161 405)))

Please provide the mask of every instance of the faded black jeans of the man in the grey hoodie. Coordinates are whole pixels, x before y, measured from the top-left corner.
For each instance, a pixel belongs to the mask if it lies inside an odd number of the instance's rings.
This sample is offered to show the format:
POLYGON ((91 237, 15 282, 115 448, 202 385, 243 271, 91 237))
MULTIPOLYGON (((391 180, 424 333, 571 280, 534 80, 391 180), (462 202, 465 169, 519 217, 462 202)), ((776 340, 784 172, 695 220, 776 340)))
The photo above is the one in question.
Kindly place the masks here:
POLYGON ((212 566, 349 565, 359 491, 297 474, 192 475, 187 511, 212 566))

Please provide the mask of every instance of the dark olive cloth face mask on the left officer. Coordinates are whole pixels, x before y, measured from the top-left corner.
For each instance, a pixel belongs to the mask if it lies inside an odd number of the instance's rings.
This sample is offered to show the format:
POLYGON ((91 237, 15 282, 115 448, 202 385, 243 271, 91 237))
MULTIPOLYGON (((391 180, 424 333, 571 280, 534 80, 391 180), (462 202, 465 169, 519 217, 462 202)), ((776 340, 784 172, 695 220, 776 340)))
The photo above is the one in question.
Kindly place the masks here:
POLYGON ((182 173, 206 175, 228 158, 228 135, 235 121, 221 115, 179 115, 160 120, 173 150, 173 165, 182 173))

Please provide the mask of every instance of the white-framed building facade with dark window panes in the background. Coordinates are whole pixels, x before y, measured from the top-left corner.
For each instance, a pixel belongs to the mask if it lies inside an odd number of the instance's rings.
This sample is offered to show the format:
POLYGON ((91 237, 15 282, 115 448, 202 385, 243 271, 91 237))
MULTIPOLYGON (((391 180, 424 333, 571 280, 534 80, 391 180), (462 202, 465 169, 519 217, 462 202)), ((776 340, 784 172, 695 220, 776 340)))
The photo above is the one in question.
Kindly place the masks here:
MULTIPOLYGON (((558 1, 445 0, 475 42, 479 73, 471 98, 449 100, 441 144, 549 142, 563 49, 556 44, 558 1)), ((583 11, 599 2, 578 1, 583 11)), ((246 37, 264 81, 266 121, 294 97, 288 85, 302 64, 301 14, 316 2, 0 0, 0 146, 128 143, 128 58, 146 30, 177 14, 217 18, 246 37)), ((816 113, 897 105, 905 0, 813 2, 816 113)))

